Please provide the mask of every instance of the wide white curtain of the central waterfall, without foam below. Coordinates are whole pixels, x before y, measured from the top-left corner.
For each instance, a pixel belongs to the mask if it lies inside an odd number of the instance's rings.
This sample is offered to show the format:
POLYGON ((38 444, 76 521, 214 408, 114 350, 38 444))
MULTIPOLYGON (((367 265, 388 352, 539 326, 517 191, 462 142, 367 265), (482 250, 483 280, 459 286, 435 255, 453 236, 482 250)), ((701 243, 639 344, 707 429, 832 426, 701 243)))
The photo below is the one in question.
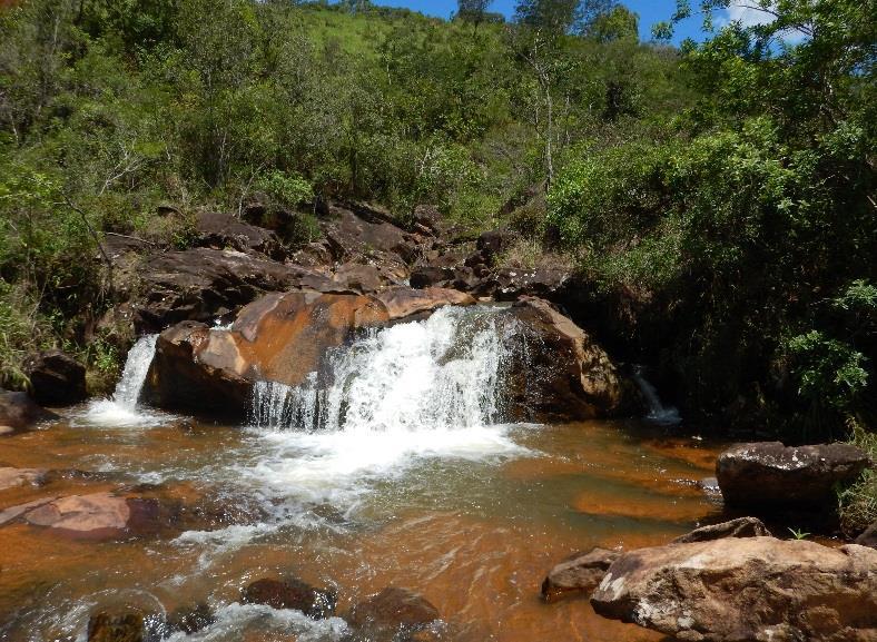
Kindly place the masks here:
POLYGON ((445 307, 372 330, 296 387, 259 382, 252 423, 305 432, 413 432, 501 419, 504 325, 494 308, 445 307), (321 381, 324 379, 324 381, 321 381))

